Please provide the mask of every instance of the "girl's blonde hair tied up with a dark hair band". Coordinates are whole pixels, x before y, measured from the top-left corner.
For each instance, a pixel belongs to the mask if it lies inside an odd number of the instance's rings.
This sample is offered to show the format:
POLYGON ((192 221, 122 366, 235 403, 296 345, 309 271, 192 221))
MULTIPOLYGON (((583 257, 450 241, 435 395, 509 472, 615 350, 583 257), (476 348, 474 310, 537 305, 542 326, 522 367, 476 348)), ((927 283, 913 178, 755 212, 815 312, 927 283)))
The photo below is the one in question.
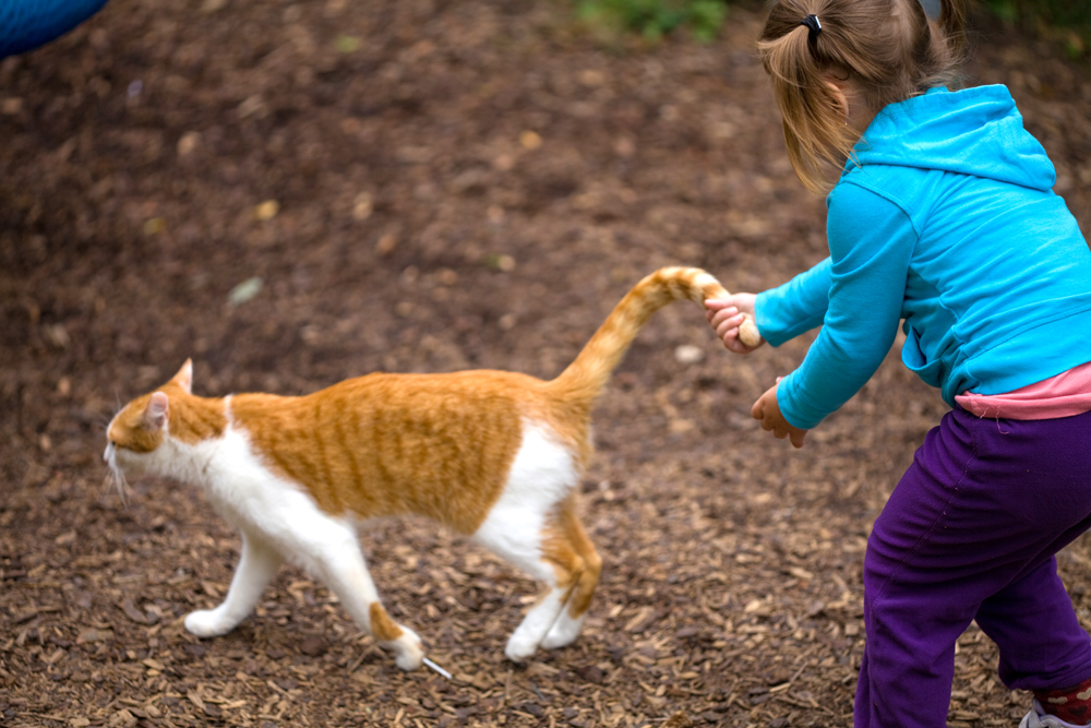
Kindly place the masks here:
POLYGON ((963 0, 942 0, 930 21, 919 0, 776 0, 758 43, 783 117, 788 156, 803 184, 829 191, 860 133, 827 85, 850 81, 870 110, 955 85, 964 58, 963 0), (816 15, 822 31, 802 21, 816 15))

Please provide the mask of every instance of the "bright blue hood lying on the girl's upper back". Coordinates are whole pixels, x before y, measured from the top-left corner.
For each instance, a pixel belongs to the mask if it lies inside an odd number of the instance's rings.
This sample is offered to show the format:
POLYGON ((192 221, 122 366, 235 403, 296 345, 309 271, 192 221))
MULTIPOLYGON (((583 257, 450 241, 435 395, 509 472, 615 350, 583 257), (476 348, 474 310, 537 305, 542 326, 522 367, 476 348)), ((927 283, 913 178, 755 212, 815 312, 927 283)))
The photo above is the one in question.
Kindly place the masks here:
POLYGON ((1005 86, 931 88, 879 111, 844 174, 867 165, 939 169, 1051 190, 1057 180, 1045 150, 1022 126, 1005 86))

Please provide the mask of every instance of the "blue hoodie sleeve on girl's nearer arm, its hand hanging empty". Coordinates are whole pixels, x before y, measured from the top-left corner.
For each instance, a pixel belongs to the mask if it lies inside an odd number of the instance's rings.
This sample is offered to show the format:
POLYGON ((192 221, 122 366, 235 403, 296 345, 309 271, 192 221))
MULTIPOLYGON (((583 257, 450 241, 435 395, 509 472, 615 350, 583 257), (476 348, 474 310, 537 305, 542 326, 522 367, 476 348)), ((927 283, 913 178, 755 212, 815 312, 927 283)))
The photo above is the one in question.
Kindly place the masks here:
POLYGON ((829 308, 803 363, 777 387, 784 417, 803 429, 848 402, 883 363, 919 238, 900 206, 853 183, 830 193, 826 227, 829 308))

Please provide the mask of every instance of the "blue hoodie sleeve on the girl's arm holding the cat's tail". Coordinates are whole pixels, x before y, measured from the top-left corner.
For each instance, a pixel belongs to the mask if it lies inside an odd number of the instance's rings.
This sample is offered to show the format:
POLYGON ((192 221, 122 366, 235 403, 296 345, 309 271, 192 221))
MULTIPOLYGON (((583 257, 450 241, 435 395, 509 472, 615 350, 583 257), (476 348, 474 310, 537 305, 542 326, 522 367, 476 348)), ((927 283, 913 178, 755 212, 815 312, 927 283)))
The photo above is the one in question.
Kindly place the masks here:
POLYGON ((758 294, 754 315, 765 341, 780 346, 822 325, 829 306, 829 270, 827 258, 784 285, 758 294))

